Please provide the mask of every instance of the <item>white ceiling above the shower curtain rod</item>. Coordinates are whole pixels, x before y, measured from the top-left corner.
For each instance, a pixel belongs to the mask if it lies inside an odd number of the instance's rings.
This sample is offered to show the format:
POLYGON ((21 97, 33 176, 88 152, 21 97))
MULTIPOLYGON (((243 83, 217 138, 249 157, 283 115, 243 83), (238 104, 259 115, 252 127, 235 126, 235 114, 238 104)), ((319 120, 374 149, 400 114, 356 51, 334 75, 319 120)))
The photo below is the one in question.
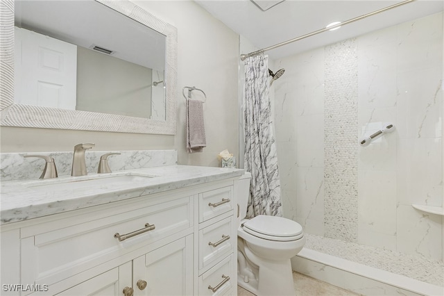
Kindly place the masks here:
MULTIPOLYGON (((243 35, 258 49, 270 47, 313 31, 334 21, 344 22, 402 1, 386 0, 286 0, 262 11, 250 0, 195 0, 233 31, 243 35)), ((443 11, 443 0, 416 0, 383 13, 350 23, 336 31, 287 44, 268 51, 272 59, 298 54, 340 40, 393 26, 411 19, 443 11)), ((248 54, 242 52, 241 54, 248 54)))

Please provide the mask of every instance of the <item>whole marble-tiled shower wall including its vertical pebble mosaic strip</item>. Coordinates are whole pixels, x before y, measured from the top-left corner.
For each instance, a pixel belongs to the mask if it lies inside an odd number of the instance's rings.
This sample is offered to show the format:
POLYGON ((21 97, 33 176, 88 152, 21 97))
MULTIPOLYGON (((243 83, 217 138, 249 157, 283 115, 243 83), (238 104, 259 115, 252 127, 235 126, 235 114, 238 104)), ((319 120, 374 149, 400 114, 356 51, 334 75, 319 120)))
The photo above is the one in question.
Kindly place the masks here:
POLYGON ((442 261, 443 13, 275 60, 284 217, 307 233, 442 261), (345 65, 344 62, 347 62, 345 65), (395 131, 361 147, 358 139, 395 131))

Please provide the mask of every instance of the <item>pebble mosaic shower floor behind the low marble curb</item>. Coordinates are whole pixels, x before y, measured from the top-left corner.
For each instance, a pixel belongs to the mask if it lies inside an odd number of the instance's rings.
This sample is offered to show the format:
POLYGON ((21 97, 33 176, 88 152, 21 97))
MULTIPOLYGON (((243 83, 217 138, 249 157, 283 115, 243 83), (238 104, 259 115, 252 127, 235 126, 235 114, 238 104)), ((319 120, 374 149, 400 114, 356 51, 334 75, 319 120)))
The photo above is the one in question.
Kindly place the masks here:
POLYGON ((444 263, 425 256, 410 255, 354 242, 345 242, 305 233, 305 247, 318 252, 365 264, 411 279, 443 286, 444 263))

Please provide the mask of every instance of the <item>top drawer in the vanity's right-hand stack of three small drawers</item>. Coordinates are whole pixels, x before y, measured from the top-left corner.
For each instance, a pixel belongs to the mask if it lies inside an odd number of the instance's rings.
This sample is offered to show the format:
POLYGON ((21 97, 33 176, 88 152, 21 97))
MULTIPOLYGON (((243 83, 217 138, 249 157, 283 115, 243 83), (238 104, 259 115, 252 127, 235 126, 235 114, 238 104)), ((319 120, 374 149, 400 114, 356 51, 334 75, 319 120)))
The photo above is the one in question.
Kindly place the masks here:
POLYGON ((233 187, 226 186, 199 194, 199 223, 233 208, 233 187))

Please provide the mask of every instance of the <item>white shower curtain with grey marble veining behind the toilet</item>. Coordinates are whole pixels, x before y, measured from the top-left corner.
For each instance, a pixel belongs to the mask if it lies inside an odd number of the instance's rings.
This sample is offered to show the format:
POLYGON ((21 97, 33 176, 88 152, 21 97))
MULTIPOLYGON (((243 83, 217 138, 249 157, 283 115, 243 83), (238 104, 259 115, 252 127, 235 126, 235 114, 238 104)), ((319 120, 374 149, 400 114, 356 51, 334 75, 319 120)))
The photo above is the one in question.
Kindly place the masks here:
POLYGON ((278 154, 268 86, 268 56, 252 56, 246 58, 244 64, 244 167, 252 176, 247 217, 282 216, 278 154))

